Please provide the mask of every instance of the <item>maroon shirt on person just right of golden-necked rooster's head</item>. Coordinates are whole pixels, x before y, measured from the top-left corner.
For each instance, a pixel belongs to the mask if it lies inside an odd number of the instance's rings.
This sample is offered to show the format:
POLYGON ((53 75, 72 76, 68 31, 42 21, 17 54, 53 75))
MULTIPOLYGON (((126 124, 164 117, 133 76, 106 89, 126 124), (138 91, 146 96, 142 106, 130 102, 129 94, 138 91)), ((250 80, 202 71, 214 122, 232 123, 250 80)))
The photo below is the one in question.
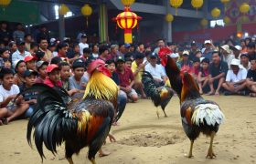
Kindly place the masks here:
POLYGON ((134 79, 133 72, 132 72, 132 70, 130 68, 125 67, 123 73, 121 73, 120 71, 116 70, 116 73, 119 76, 120 86, 121 87, 128 87, 128 86, 130 86, 131 82, 134 79))

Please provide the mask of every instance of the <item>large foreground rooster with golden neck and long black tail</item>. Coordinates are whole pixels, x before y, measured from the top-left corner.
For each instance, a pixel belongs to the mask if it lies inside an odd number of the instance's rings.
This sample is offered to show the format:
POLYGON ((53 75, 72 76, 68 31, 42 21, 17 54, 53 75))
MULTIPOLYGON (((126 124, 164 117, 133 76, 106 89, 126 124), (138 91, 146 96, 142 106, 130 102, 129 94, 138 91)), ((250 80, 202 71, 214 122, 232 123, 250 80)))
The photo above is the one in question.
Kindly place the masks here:
MULTIPOLYGON (((84 97, 71 101, 62 88, 35 85, 25 92, 37 91, 36 111, 27 125, 27 141, 31 146, 31 133, 37 151, 43 160, 43 143, 54 155, 56 147, 65 141, 66 158, 73 163, 72 155, 89 147, 88 159, 95 164, 95 154, 101 149, 112 126, 117 106, 118 87, 108 76, 102 60, 91 63, 91 74, 84 97)), ((24 94, 24 93, 21 93, 24 94)))

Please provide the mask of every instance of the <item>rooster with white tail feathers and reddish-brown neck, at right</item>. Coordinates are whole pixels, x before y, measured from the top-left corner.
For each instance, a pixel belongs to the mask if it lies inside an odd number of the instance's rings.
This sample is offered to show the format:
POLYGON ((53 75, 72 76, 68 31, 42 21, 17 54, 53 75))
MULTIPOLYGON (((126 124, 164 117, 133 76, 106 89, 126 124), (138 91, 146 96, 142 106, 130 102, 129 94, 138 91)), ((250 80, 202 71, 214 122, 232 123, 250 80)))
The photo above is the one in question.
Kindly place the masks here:
POLYGON ((219 125, 224 120, 224 114, 217 103, 205 100, 200 96, 195 79, 186 68, 181 70, 181 79, 183 86, 181 89, 180 114, 182 126, 191 142, 188 158, 193 157, 194 140, 202 132, 210 137, 207 158, 213 159, 216 157, 212 149, 213 138, 219 130, 219 125))

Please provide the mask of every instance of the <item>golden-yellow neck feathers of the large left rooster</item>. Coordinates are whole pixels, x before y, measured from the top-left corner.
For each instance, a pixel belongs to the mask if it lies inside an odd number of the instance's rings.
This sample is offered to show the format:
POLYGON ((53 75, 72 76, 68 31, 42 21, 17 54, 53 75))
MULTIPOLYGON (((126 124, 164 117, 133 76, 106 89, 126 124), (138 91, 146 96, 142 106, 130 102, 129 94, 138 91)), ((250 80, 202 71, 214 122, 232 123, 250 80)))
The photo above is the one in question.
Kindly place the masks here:
POLYGON ((117 98, 118 87, 112 78, 105 76, 95 70, 90 77, 84 92, 84 97, 95 97, 96 99, 105 99, 112 101, 117 98))

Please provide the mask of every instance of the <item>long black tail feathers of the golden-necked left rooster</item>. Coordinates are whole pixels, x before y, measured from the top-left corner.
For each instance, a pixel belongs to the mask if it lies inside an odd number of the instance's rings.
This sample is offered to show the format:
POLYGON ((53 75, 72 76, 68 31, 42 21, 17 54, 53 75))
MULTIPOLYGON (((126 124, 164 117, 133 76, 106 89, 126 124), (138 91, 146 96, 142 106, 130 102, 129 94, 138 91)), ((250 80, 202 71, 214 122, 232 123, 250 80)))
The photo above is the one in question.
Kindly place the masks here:
MULTIPOLYGON (((27 142, 31 146, 31 134, 34 130, 34 139, 41 159, 45 158, 43 143, 54 155, 56 147, 76 134, 78 128, 77 118, 67 109, 64 98, 54 88, 45 85, 35 85, 24 93, 37 92, 37 105, 35 112, 27 124, 27 142)), ((64 93, 64 92, 63 92, 64 93)))

